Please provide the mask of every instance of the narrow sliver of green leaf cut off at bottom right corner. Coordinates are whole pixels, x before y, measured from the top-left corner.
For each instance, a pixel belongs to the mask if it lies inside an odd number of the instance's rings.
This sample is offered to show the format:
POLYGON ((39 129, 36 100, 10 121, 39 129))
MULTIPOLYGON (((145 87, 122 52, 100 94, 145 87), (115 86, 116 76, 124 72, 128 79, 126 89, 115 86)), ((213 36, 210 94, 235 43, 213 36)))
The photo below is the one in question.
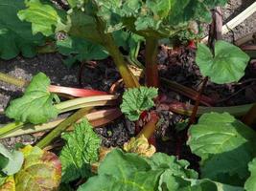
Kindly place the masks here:
POLYGON ((246 191, 256 190, 256 159, 253 159, 248 164, 250 177, 245 181, 244 188, 246 191))

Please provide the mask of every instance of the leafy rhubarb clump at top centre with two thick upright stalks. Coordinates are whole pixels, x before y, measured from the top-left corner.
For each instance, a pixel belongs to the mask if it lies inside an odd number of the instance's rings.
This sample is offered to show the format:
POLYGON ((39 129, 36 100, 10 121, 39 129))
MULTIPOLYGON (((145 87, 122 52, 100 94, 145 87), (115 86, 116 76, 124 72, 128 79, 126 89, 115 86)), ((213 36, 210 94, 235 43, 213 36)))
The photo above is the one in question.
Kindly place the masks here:
POLYGON ((70 10, 59 11, 39 0, 26 1, 27 9, 18 12, 21 20, 32 23, 34 33, 49 36, 67 32, 104 47, 109 53, 127 87, 138 87, 130 74, 124 55, 118 50, 114 33, 125 29, 146 39, 146 79, 148 86, 158 86, 156 65, 158 40, 174 38, 178 32, 189 30, 191 22, 211 20, 210 9, 223 6, 225 0, 215 1, 68 1, 70 10), (45 11, 47 10, 47 11, 45 11), (35 19, 36 18, 36 19, 35 19))

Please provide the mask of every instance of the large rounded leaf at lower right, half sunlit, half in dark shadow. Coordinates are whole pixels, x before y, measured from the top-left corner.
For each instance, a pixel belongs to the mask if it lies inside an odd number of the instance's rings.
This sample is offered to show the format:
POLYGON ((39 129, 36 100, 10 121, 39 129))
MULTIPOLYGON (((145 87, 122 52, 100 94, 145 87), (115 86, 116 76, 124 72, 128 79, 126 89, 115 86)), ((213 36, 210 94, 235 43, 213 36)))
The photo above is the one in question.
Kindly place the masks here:
POLYGON ((204 114, 189 136, 192 153, 201 158, 202 178, 241 185, 249 176, 247 163, 256 155, 256 134, 235 117, 204 114))

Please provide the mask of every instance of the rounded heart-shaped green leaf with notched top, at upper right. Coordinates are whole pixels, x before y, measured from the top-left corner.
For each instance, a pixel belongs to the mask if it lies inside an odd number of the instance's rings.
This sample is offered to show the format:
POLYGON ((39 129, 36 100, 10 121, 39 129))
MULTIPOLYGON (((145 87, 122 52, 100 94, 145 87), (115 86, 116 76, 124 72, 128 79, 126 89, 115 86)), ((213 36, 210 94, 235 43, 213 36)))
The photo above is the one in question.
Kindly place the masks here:
POLYGON ((218 84, 239 81, 244 76, 248 61, 246 53, 224 41, 216 42, 215 55, 206 45, 198 45, 196 62, 201 74, 218 84))

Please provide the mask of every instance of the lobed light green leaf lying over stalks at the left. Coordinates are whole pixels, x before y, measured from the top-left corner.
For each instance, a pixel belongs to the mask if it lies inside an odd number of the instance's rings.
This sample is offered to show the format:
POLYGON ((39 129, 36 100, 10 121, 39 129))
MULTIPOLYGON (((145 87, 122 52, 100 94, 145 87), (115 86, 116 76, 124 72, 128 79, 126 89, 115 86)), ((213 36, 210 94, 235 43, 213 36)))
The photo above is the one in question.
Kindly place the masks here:
POLYGON ((11 101, 6 115, 16 121, 34 124, 47 122, 58 116, 58 109, 53 105, 58 96, 48 91, 50 79, 43 73, 36 74, 27 87, 24 96, 11 101))

